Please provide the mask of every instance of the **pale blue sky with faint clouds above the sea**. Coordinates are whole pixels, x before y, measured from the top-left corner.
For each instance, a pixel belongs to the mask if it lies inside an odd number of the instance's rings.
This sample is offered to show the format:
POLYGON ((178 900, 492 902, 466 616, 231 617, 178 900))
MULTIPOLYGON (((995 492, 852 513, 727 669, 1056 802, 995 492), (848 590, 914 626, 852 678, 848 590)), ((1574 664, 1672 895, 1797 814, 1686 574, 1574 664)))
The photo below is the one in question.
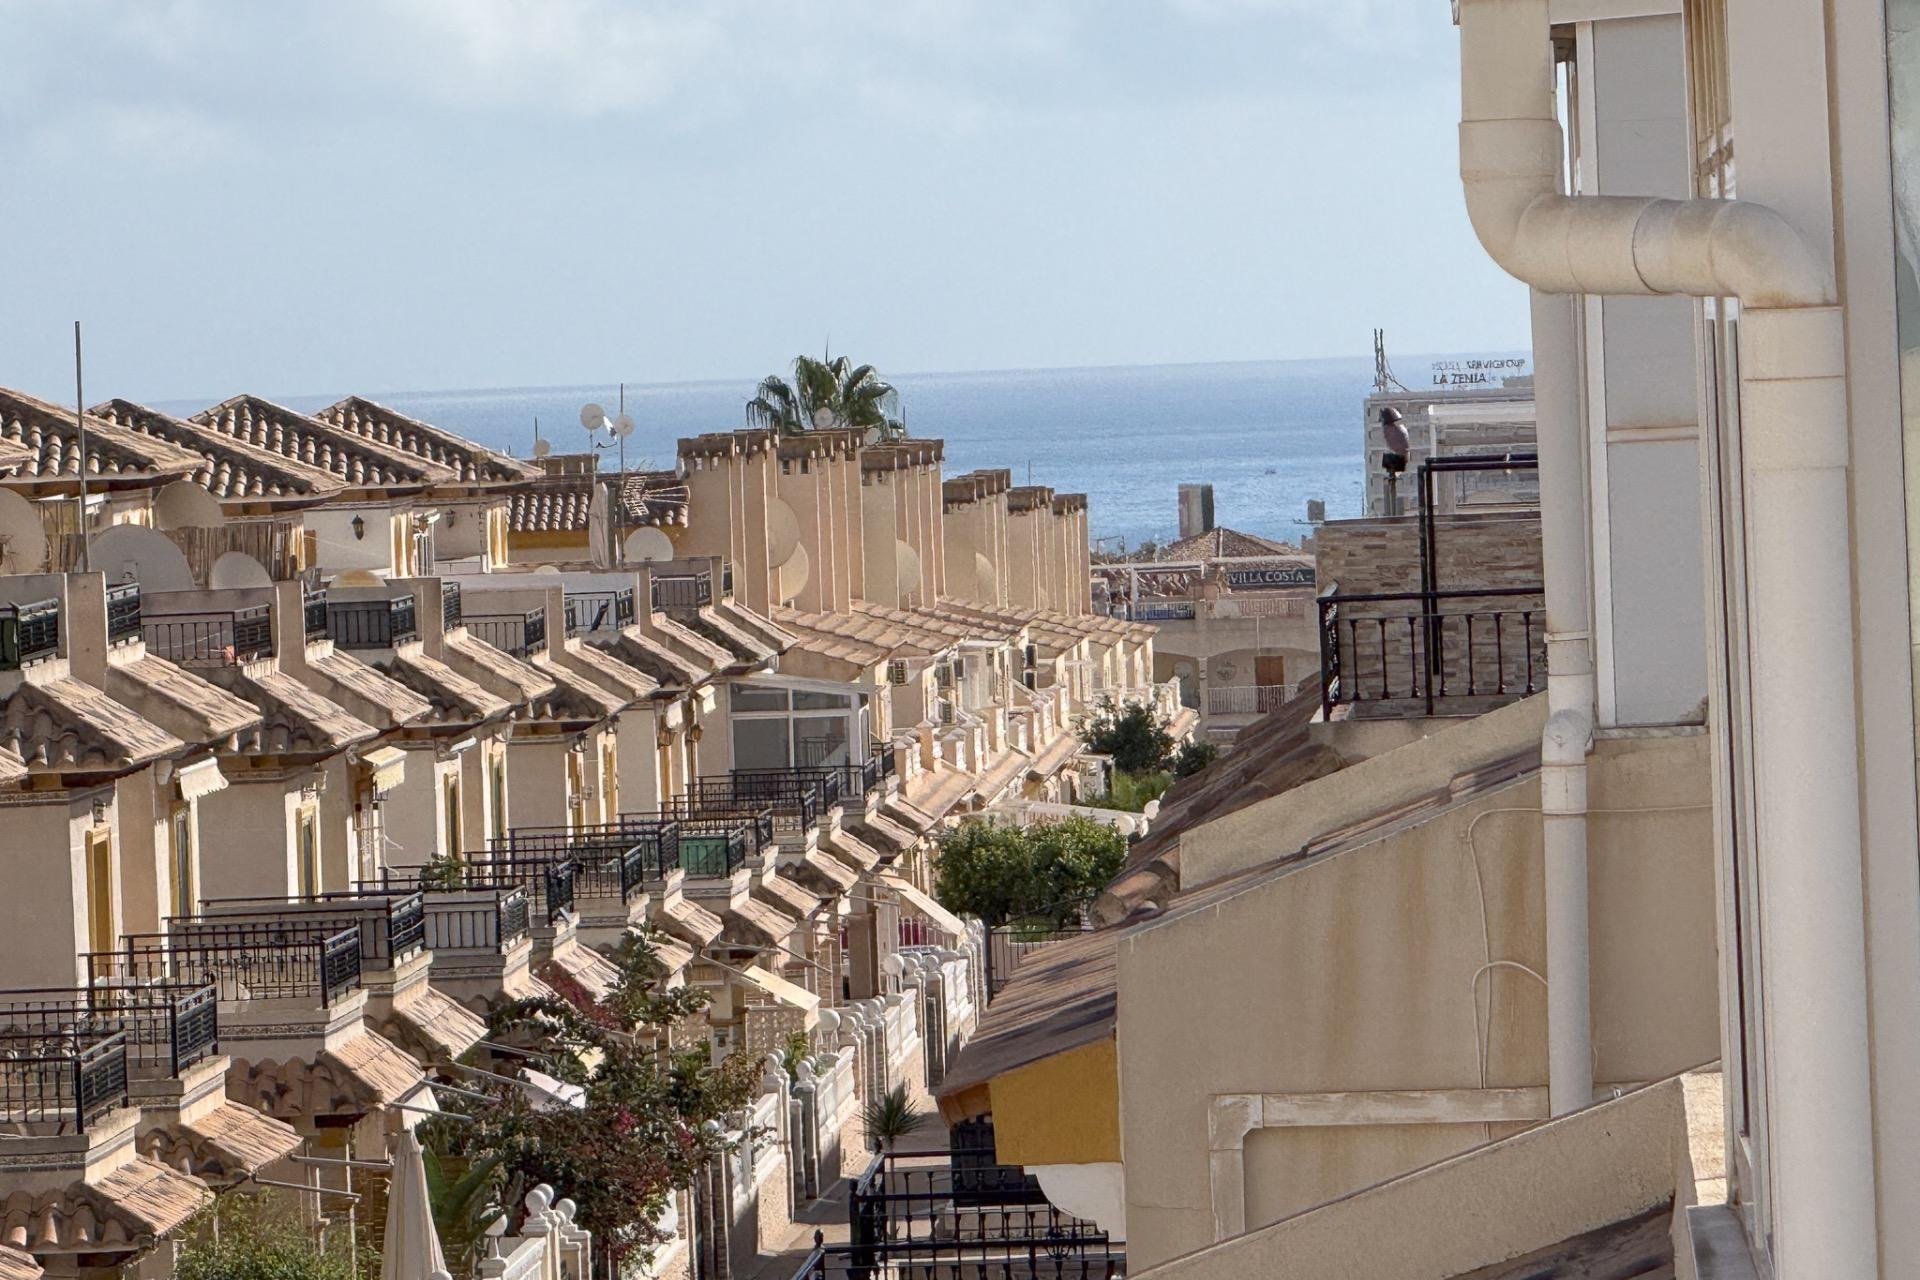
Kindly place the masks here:
POLYGON ((1526 345, 1446 0, 0 0, 71 401, 1526 345))

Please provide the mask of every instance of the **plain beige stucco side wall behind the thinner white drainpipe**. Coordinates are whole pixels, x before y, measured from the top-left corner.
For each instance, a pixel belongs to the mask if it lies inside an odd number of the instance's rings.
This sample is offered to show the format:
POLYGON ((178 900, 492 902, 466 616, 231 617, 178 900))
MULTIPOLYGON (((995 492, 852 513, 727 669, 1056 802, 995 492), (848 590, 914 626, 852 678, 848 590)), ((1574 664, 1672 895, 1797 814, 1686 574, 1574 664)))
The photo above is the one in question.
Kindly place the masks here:
MULTIPOLYGON (((1594 752, 1592 1036, 1603 1084, 1718 1055, 1709 816, 1615 812, 1705 804, 1707 775, 1703 735, 1603 741, 1594 752)), ((1183 860, 1192 846, 1183 841, 1183 860)), ((1515 965, 1544 975, 1544 942, 1534 779, 1123 938, 1129 1257, 1154 1265, 1213 1240, 1217 1096, 1542 1086, 1544 988, 1515 965)), ((1246 1224, 1500 1136, 1409 1128, 1427 1126, 1256 1128, 1246 1224)))

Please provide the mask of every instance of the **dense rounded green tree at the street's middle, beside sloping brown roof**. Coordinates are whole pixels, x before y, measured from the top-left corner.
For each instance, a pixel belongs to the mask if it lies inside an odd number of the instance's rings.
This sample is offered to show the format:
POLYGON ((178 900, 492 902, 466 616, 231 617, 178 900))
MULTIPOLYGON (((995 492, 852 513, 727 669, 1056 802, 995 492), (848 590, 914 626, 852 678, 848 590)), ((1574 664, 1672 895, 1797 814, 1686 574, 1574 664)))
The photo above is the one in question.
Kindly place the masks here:
POLYGON ((941 837, 933 892, 989 927, 1068 925, 1119 875, 1127 837, 1073 816, 1031 827, 968 819, 941 837))

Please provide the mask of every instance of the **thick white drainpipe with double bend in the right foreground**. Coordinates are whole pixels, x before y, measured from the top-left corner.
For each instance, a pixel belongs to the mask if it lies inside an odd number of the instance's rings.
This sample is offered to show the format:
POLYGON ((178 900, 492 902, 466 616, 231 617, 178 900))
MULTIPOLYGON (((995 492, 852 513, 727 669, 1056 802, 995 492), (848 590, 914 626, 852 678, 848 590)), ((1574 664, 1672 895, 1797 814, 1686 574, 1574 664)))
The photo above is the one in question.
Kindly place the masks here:
MULTIPOLYGON (((1745 201, 1561 196, 1548 0, 1461 0, 1459 25, 1461 184, 1496 263, 1544 294, 1741 303, 1774 1274, 1868 1276, 1878 1259, 1845 326, 1828 253, 1745 201)), ((1557 915, 1572 912, 1549 908, 1549 923, 1557 915)))

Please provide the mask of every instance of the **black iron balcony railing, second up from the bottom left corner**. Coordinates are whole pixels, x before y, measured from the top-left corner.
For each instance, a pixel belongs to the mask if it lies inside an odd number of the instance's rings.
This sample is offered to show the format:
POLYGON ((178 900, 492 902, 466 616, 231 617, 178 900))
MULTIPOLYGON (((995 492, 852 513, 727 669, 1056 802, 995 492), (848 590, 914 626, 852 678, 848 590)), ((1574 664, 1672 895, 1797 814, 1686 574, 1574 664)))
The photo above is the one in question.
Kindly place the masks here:
POLYGON ((125 1032, 134 1073, 177 1079, 219 1052, 219 992, 211 984, 184 983, 0 990, 0 1036, 25 1032, 125 1032))

